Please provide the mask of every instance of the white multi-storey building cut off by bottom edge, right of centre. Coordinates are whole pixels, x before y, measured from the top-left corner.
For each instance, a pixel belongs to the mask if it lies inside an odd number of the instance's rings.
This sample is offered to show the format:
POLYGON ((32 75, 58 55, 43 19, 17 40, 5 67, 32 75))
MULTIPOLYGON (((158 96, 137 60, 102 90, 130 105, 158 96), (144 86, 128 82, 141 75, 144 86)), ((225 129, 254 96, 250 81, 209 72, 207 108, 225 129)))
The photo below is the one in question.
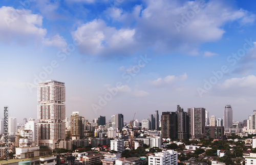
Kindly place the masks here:
POLYGON ((178 153, 174 150, 167 150, 148 156, 148 165, 177 165, 178 153))

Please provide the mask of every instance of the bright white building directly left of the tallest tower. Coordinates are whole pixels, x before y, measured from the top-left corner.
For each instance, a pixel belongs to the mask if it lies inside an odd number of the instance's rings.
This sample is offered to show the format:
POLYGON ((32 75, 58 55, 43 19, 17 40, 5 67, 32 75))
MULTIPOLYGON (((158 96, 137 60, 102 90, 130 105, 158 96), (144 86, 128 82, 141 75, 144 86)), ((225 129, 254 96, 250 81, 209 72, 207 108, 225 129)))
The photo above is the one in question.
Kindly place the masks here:
POLYGON ((32 118, 29 119, 29 121, 25 124, 25 130, 33 131, 32 146, 37 146, 38 145, 38 125, 37 125, 35 119, 32 119, 32 118))

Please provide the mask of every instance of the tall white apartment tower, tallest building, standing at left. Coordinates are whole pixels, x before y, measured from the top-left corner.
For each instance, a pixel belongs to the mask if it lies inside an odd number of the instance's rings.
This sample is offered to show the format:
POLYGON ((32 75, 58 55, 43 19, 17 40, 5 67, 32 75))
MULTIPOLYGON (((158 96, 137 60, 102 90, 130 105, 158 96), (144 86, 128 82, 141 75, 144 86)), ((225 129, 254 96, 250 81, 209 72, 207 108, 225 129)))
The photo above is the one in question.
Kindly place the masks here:
POLYGON ((49 149, 59 147, 66 138, 66 90, 65 83, 48 80, 38 84, 37 120, 39 146, 49 149))

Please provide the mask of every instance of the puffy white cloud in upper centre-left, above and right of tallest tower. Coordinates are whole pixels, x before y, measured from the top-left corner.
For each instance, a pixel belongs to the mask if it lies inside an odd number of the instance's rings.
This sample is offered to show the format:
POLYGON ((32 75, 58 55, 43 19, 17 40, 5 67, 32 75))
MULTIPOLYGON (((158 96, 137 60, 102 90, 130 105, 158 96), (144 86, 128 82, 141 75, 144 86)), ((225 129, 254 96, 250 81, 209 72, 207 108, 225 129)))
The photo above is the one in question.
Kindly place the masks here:
POLYGON ((136 49, 135 30, 106 26, 101 19, 82 24, 72 33, 81 53, 100 56, 128 55, 136 49))

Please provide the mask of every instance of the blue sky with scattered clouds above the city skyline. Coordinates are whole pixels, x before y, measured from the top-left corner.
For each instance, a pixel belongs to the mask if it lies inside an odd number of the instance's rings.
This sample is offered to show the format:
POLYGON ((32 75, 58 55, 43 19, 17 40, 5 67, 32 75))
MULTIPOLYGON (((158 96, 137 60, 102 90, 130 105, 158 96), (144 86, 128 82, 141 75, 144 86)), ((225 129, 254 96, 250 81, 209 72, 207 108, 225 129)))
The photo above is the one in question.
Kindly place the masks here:
MULTIPOLYGON (((66 83, 66 116, 124 120, 256 109, 255 1, 1 1, 0 105, 37 118, 37 83, 66 83)), ((3 115, 0 115, 3 117, 3 115)))

